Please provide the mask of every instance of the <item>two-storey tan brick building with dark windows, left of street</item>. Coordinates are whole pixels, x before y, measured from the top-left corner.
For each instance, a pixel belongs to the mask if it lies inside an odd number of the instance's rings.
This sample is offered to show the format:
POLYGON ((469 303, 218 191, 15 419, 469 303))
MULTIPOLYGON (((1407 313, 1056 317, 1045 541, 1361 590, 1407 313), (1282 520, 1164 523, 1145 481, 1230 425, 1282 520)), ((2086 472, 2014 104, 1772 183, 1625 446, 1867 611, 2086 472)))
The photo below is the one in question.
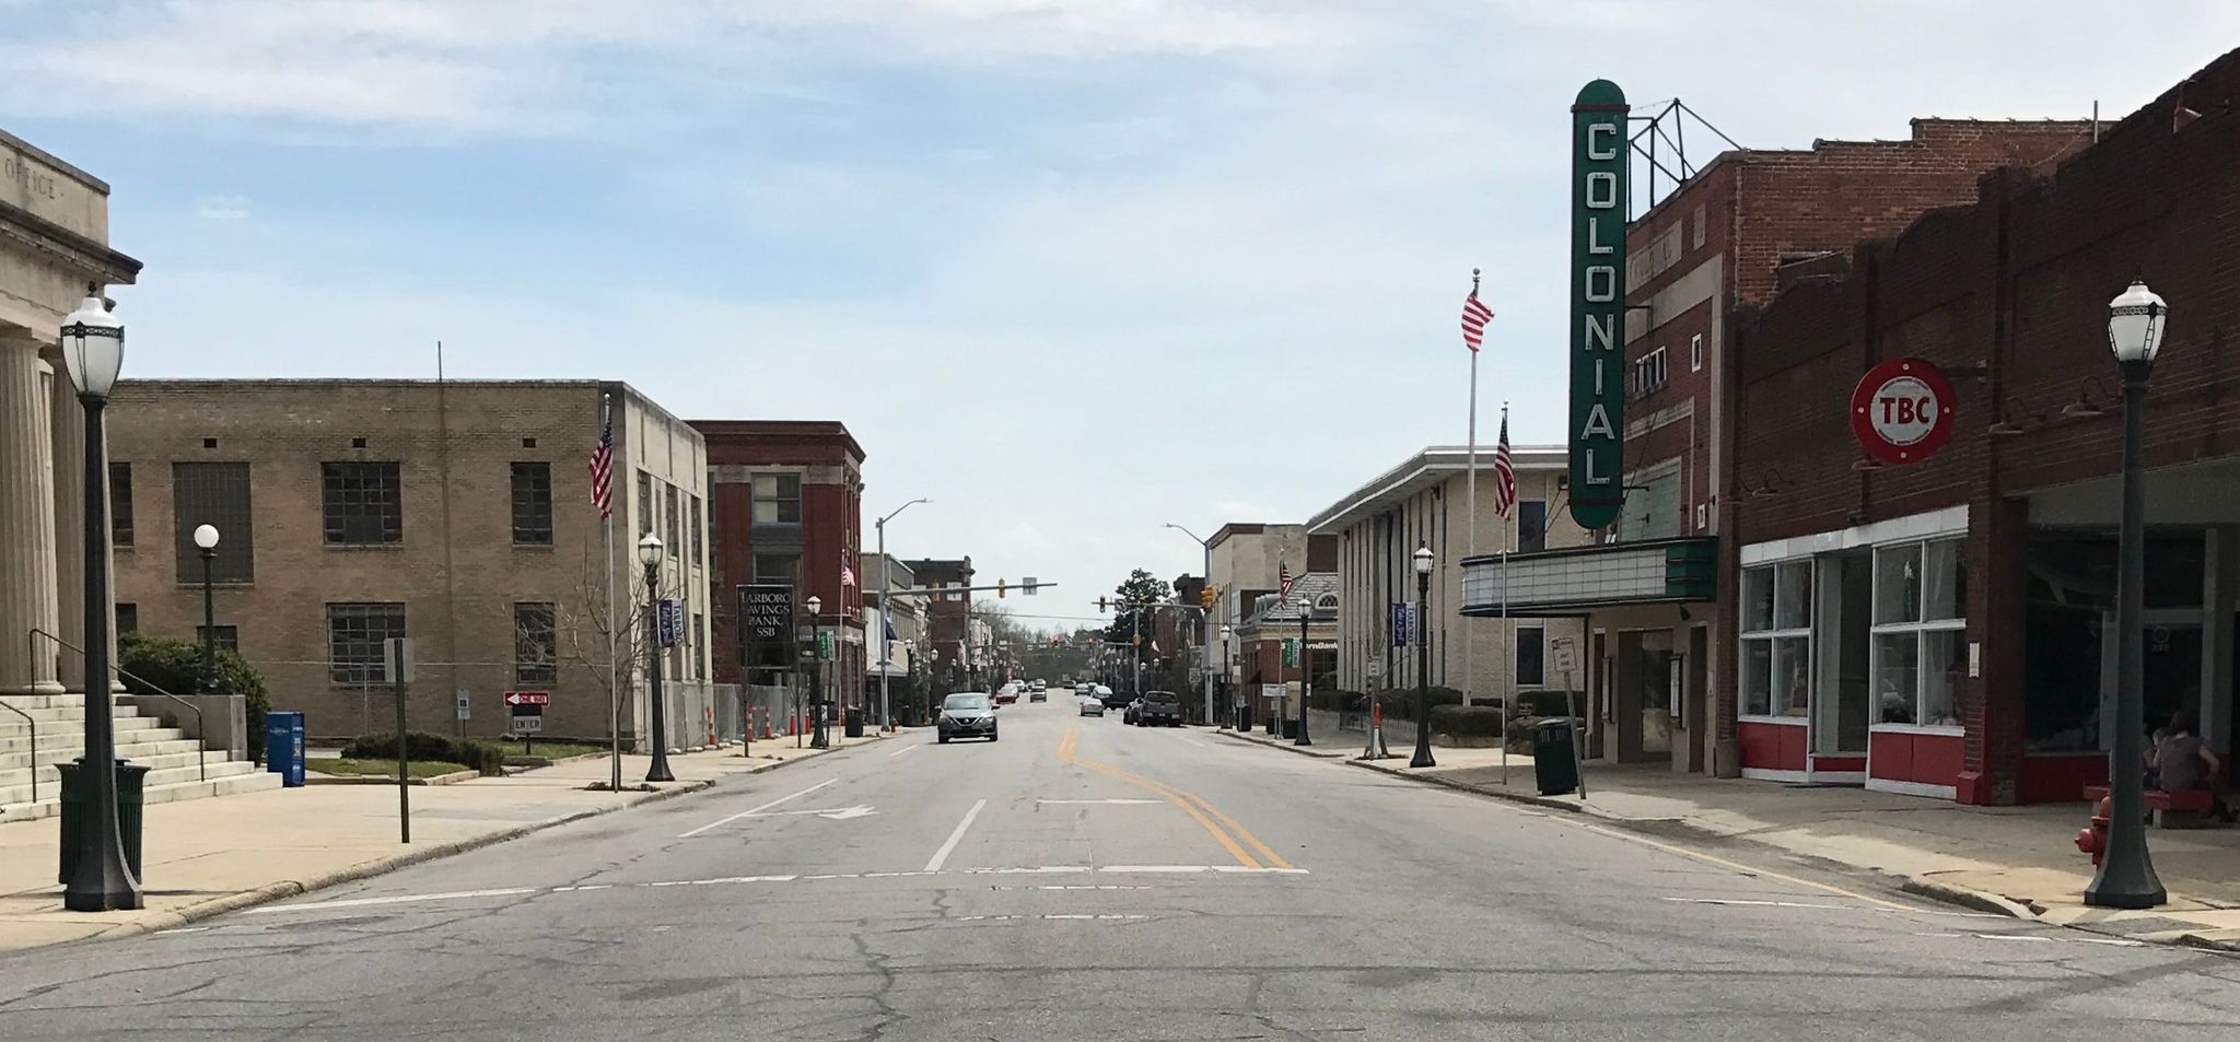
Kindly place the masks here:
MULTIPOLYGON (((627 383, 123 381, 110 417, 119 625, 199 636, 193 531, 215 524, 217 636, 311 735, 388 731, 381 639, 412 636, 414 728, 497 735, 502 692, 544 690, 544 735, 605 737, 609 618, 632 661, 647 531, 683 601, 663 677, 710 679, 706 446, 627 383), (612 553, 589 475, 603 401, 612 553)), ((638 735, 643 681, 625 670, 623 690, 638 735)))

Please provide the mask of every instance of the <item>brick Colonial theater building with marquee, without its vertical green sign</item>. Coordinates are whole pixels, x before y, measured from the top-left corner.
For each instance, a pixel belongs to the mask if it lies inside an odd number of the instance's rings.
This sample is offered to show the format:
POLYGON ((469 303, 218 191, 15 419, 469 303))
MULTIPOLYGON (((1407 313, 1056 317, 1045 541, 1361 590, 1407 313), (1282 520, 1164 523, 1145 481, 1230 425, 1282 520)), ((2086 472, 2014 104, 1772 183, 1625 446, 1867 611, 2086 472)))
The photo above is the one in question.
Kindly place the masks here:
MULTIPOLYGON (((1714 603, 1720 489, 1732 484, 1732 311, 1772 298, 1783 262, 1895 233, 1969 199, 1982 170, 2050 168, 2090 139, 2088 121, 1915 119, 1902 141, 1738 148, 1628 224, 1626 504, 1590 549, 1521 553, 1510 576, 1478 560, 1483 596, 1465 607, 1499 616, 1508 578, 1510 614, 1586 621, 1588 755, 1723 775, 1740 766, 1732 699, 1711 683, 1727 657, 1714 603)), ((1864 780, 1850 753, 1830 760, 1828 780, 1864 780)))

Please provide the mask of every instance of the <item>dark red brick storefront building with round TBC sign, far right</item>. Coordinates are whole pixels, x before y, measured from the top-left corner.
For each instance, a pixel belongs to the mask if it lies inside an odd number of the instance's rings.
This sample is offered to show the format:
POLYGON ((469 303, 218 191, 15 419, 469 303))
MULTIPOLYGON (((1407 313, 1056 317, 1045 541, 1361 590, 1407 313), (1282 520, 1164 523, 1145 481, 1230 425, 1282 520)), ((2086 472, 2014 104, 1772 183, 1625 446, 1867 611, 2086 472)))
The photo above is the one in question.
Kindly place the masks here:
POLYGON ((1792 267, 1734 329, 1723 473, 1740 766, 1978 804, 2076 800, 2108 769, 2121 421, 2108 300, 2171 303, 2146 403, 2148 726, 2240 739, 2240 52, 2036 175, 1893 240, 1792 267), (2177 125, 2180 92, 2202 112, 2177 125), (1850 390, 1884 359, 1951 374, 1951 441, 1875 466, 1850 390))

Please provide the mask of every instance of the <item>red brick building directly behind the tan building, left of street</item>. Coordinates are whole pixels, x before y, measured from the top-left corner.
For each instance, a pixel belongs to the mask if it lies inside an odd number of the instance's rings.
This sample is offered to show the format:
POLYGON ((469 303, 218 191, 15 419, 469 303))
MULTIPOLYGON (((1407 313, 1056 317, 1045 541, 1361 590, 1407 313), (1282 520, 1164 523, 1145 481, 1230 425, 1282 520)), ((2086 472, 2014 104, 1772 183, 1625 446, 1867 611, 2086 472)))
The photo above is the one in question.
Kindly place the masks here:
POLYGON ((862 446, 838 421, 694 419, 708 441, 710 587, 721 605, 715 623, 715 677, 724 683, 780 683, 800 666, 791 641, 748 641, 739 589, 791 585, 795 610, 820 601, 818 627, 833 632, 827 697, 847 706, 865 690, 862 446), (847 576, 842 576, 847 571, 847 576))

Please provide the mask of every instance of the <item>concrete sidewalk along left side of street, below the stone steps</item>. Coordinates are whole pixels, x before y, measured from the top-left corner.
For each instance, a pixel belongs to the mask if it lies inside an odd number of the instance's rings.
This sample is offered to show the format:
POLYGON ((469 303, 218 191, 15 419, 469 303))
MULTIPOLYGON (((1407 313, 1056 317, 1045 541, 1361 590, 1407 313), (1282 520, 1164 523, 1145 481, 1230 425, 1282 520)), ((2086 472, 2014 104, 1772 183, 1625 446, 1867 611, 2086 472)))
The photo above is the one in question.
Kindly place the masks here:
MULTIPOLYGON (((833 735, 833 748, 878 742, 833 735)), ((560 822, 706 789, 721 778, 771 771, 822 755, 793 739, 670 757, 676 782, 629 791, 647 757, 623 757, 625 791, 605 784, 605 757, 569 760, 506 778, 412 787, 412 843, 396 840, 392 784, 269 789, 146 809, 146 908, 67 912, 56 883, 60 820, 0 825, 0 950, 164 930, 235 908, 374 876, 461 849, 502 843, 560 822)))

